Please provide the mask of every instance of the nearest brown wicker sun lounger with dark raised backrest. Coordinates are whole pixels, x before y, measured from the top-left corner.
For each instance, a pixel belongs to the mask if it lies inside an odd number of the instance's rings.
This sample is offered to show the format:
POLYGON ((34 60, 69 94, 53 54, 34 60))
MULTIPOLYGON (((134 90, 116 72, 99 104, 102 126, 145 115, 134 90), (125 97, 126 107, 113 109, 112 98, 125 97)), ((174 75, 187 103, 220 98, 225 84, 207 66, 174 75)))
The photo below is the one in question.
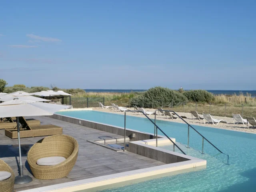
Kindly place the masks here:
MULTIPOLYGON (((62 134, 62 127, 59 127, 59 126, 55 126, 55 125, 30 126, 23 117, 19 117, 19 121, 20 121, 20 138, 62 134)), ((12 139, 18 138, 17 128, 5 129, 5 135, 12 139)))

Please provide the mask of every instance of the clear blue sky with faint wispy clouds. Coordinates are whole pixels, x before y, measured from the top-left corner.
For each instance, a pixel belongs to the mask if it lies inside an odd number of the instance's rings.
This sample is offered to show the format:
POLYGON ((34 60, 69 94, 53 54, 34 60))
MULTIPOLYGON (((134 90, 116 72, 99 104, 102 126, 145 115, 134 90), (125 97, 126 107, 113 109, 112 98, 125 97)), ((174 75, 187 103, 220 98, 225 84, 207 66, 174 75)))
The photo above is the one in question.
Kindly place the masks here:
POLYGON ((256 1, 0 2, 10 86, 256 90, 256 1))

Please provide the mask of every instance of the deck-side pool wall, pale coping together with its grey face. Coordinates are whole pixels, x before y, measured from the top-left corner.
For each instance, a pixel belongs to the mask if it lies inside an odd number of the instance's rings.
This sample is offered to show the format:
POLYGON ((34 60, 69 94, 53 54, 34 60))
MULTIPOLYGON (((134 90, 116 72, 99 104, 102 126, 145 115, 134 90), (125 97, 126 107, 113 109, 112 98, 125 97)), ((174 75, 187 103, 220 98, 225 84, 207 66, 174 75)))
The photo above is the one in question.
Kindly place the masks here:
MULTIPOLYGON (((124 136, 124 128, 122 127, 57 114, 48 117, 124 136)), ((106 176, 66 182, 41 188, 34 188, 22 192, 74 192, 99 186, 109 186, 110 184, 127 182, 129 180, 148 178, 150 176, 156 176, 160 174, 175 173, 177 171, 193 171, 206 168, 206 160, 194 158, 192 156, 154 146, 156 139, 152 134, 132 129, 126 129, 126 133, 126 136, 135 134, 134 138, 131 138, 129 142, 129 147, 127 148, 128 151, 158 160, 160 162, 164 162, 166 164, 153 166, 150 168, 142 168, 140 170, 131 170, 106 176)), ((174 138, 172 138, 172 140, 175 142, 174 138)), ((168 140, 166 137, 159 136, 158 144, 170 144, 170 140, 168 140)), ((178 173, 179 172, 177 172, 177 174, 178 173)))

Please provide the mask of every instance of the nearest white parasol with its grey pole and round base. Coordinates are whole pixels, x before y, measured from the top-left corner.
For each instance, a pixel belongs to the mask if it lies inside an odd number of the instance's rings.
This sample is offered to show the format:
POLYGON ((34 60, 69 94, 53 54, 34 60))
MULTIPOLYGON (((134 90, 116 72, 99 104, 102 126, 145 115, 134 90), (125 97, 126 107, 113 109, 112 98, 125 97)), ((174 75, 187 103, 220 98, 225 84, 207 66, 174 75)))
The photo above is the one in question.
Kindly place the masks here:
POLYGON ((19 154, 20 154, 20 175, 16 176, 15 184, 25 184, 32 181, 32 178, 27 175, 23 175, 23 166, 21 158, 21 148, 20 148, 20 123, 19 118, 21 116, 43 116, 52 115, 55 112, 67 109, 68 106, 63 105, 53 105, 49 103, 42 103, 30 100, 20 100, 14 98, 13 100, 0 103, 0 118, 4 117, 16 117, 17 131, 18 131, 18 144, 19 144, 19 154))

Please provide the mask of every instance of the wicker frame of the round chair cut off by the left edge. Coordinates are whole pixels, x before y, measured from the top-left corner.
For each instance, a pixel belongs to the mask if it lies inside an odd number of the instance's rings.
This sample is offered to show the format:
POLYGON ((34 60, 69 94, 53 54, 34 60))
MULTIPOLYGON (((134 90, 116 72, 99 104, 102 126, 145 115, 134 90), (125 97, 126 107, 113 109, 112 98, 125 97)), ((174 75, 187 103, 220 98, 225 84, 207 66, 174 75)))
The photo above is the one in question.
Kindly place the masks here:
POLYGON ((12 174, 12 176, 6 180, 0 181, 0 191, 1 192, 13 192, 14 186, 14 172, 10 166, 3 160, 0 160, 0 171, 7 171, 12 174))

